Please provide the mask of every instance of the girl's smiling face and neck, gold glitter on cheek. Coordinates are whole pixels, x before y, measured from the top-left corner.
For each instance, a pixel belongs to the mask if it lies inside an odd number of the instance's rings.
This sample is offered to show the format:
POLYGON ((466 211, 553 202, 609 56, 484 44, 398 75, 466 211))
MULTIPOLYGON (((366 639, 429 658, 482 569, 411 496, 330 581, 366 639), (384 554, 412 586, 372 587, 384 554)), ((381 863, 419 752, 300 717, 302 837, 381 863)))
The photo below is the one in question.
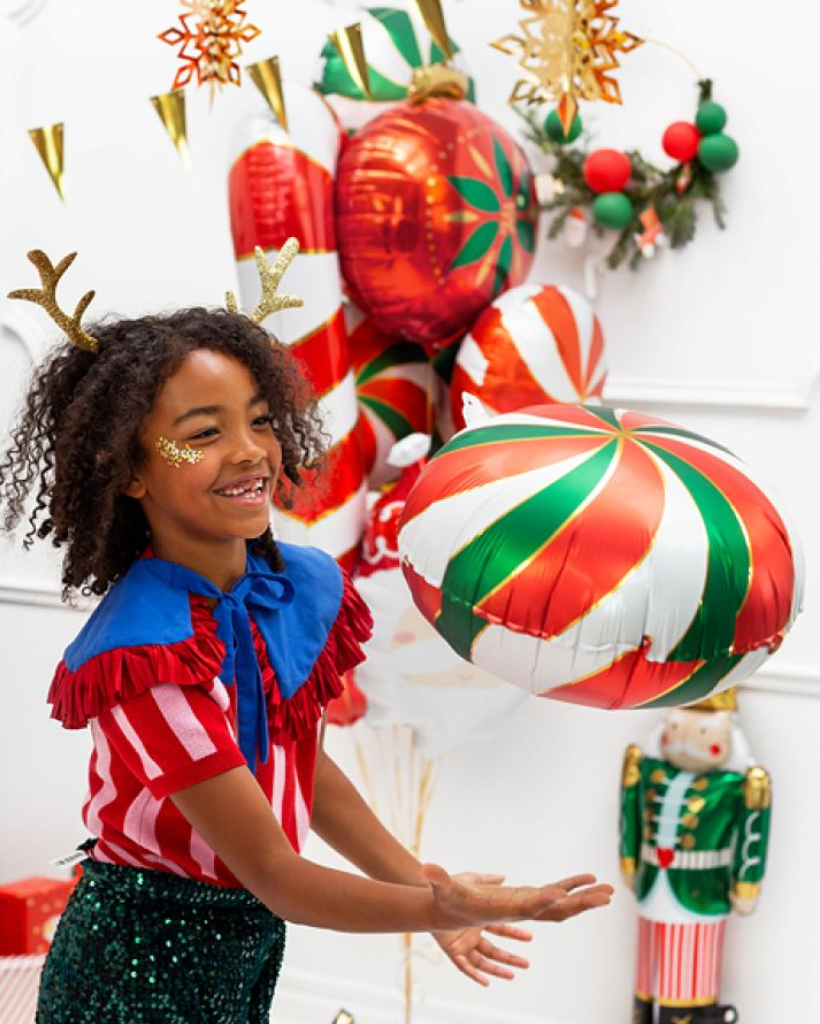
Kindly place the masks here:
POLYGON ((221 587, 245 570, 244 542, 269 525, 282 463, 270 413, 248 368, 221 352, 195 349, 168 378, 142 421, 145 459, 127 490, 158 557, 221 587), (161 437, 202 458, 175 466, 158 451, 161 437))

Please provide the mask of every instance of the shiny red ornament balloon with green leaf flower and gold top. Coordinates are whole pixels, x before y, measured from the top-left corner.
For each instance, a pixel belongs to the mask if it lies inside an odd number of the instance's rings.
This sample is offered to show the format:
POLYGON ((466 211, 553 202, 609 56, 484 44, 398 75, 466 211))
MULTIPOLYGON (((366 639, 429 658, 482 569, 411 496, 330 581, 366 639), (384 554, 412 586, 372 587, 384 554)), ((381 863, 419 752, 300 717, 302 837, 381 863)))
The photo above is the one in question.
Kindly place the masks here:
POLYGON ((538 214, 526 158, 466 100, 404 102, 365 125, 340 160, 336 211, 356 303, 428 352, 532 263, 538 214))

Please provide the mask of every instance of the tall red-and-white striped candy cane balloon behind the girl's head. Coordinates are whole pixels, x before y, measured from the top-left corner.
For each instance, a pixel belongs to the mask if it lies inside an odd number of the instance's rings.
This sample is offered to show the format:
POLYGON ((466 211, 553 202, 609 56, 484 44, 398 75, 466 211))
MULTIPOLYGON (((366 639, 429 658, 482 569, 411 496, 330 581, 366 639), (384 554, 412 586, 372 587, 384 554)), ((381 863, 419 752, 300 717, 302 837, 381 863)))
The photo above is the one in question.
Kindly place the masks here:
POLYGON ((305 304, 275 314, 268 326, 291 346, 310 378, 331 440, 319 483, 300 488, 294 507, 278 508, 274 521, 278 537, 323 548, 350 567, 364 522, 366 489, 333 214, 340 128, 311 89, 288 83, 285 99, 290 134, 269 116, 251 121, 230 170, 240 294, 247 307, 259 297, 255 246, 275 253, 290 236, 299 240, 288 291, 302 296, 305 304))

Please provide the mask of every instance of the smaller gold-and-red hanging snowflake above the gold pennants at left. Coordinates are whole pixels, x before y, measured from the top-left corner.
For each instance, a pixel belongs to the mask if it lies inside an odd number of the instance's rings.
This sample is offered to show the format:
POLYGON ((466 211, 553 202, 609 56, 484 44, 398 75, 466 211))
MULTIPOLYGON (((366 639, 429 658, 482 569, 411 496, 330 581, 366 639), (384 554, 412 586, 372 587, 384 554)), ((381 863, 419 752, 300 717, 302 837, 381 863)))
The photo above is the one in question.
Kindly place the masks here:
POLYGON ((179 46, 177 56, 182 67, 177 71, 172 89, 181 89, 197 76, 197 84, 239 85, 236 57, 242 44, 260 34, 255 25, 246 25, 246 0, 180 0, 187 12, 179 15, 182 28, 166 29, 160 39, 169 46, 179 46))

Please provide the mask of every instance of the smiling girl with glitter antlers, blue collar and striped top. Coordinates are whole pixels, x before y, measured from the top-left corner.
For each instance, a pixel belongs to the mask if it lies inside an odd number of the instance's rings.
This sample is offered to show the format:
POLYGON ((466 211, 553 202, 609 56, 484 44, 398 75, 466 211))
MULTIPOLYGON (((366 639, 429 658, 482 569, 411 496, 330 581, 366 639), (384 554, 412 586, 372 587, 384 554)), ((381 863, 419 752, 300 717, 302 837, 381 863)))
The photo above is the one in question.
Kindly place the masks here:
POLYGON ((321 446, 287 350, 226 310, 86 331, 54 298, 71 260, 31 259, 42 292, 12 294, 68 340, 0 463, 3 525, 33 496, 27 544, 62 548, 66 596, 102 596, 49 692, 63 726, 91 729, 93 840, 40 1024, 266 1021, 285 921, 431 931, 485 984, 527 966, 490 938, 528 938, 506 923, 608 903, 589 874, 508 888, 421 865, 325 753, 322 708, 370 615, 333 559, 271 536, 271 498, 321 446), (301 856, 308 826, 368 877, 301 856))

